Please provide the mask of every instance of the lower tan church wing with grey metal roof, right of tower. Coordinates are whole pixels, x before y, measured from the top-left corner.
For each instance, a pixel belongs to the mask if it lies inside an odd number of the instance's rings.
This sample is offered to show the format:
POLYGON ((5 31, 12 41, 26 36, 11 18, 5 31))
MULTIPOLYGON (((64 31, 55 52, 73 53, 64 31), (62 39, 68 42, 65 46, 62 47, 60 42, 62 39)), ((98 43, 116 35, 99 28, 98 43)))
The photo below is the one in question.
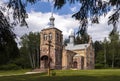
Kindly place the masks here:
POLYGON ((74 35, 63 48, 62 69, 94 69, 94 49, 92 40, 86 44, 74 44, 74 35))

